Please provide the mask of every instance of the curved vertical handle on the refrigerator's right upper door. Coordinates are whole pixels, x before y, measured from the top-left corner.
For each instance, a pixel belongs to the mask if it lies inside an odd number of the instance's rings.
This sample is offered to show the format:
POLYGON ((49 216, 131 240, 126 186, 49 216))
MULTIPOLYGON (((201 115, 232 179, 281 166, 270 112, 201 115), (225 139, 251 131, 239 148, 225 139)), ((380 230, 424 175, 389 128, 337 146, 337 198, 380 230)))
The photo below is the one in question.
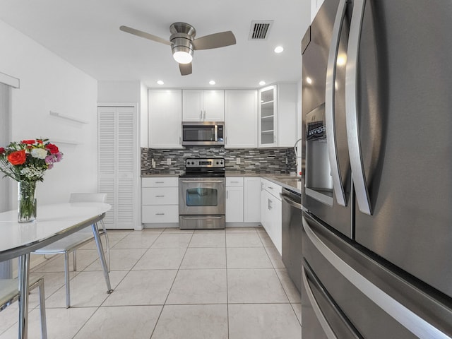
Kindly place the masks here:
POLYGON ((359 141, 357 117, 357 76, 359 40, 361 38, 362 20, 366 0, 355 0, 353 4, 350 35, 347 46, 347 68, 345 71, 345 121, 347 124, 347 143, 350 155, 350 167, 355 184, 358 208, 362 213, 372 214, 367 188, 366 174, 362 161, 362 149, 359 141))

